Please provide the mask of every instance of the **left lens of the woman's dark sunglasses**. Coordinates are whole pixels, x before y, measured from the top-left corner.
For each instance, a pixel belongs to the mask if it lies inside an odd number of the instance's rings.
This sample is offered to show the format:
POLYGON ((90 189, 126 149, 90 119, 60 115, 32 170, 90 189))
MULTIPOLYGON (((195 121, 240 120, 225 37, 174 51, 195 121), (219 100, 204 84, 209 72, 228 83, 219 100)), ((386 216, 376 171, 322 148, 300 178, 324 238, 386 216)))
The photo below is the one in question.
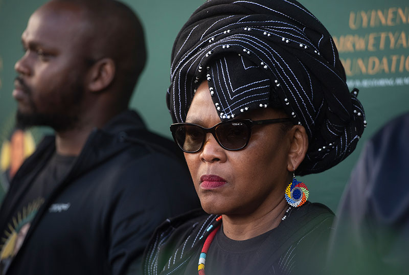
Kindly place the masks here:
POLYGON ((203 143, 203 130, 195 125, 181 125, 174 133, 177 144, 186 152, 196 152, 203 143))

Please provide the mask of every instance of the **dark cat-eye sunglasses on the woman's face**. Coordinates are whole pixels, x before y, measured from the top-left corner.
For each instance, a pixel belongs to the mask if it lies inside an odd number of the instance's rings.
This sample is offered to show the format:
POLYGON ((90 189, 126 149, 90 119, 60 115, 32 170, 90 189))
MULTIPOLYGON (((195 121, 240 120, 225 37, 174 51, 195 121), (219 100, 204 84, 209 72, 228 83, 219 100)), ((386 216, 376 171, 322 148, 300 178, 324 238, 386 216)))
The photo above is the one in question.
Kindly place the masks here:
POLYGON ((200 151, 205 145, 207 133, 212 133, 222 148, 236 151, 247 146, 253 126, 287 121, 290 119, 230 120, 220 122, 211 128, 204 128, 194 123, 174 123, 170 125, 170 130, 177 145, 186 153, 200 151))

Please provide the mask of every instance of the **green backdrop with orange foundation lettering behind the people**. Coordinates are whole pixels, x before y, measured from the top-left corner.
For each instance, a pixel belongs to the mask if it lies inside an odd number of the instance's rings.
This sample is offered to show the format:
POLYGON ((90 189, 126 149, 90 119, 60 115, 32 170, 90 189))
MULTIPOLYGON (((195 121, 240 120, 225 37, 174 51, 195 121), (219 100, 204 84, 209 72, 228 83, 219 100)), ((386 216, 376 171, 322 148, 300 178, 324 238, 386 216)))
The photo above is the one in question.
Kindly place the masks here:
MULTIPOLYGON (((22 55, 20 35, 42 0, 0 0, 0 143, 13 129, 13 66, 22 55)), ((170 137, 165 104, 173 39, 201 0, 127 0, 141 17, 149 50, 148 63, 132 97, 149 128, 170 137)), ((350 88, 366 111, 368 127, 357 149, 343 163, 301 179, 310 200, 336 210, 365 140, 381 125, 409 110, 409 3, 407 0, 302 0, 333 35, 346 67, 350 88)), ((33 129, 38 141, 43 129, 33 129)), ((4 180, 4 178, 0 178, 4 180)), ((391 183, 392 188, 392 183, 391 183)), ((0 197, 4 191, 0 187, 0 197)), ((363 195, 363 194, 362 194, 363 195)))

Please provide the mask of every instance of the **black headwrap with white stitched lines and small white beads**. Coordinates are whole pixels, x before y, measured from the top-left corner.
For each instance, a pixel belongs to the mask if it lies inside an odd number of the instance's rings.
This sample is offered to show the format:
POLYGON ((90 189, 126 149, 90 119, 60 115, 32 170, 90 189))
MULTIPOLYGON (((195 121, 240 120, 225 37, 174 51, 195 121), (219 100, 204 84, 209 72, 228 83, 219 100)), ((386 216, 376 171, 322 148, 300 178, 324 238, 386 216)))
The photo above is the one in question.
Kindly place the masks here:
POLYGON ((330 34, 293 0, 211 0, 199 7, 173 46, 167 104, 174 122, 185 121, 203 80, 222 121, 281 107, 303 125, 309 148, 297 174, 338 164, 366 124, 330 34))

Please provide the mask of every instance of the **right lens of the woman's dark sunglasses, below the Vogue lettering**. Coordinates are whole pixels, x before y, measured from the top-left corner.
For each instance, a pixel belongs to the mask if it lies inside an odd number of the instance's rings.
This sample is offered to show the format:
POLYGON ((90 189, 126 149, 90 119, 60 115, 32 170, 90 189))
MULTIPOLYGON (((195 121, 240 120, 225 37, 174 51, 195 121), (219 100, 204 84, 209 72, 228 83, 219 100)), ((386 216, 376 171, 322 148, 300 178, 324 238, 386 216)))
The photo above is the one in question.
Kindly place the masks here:
POLYGON ((238 150, 243 148, 248 141, 249 129, 242 122, 222 123, 216 128, 219 142, 227 149, 238 150))

